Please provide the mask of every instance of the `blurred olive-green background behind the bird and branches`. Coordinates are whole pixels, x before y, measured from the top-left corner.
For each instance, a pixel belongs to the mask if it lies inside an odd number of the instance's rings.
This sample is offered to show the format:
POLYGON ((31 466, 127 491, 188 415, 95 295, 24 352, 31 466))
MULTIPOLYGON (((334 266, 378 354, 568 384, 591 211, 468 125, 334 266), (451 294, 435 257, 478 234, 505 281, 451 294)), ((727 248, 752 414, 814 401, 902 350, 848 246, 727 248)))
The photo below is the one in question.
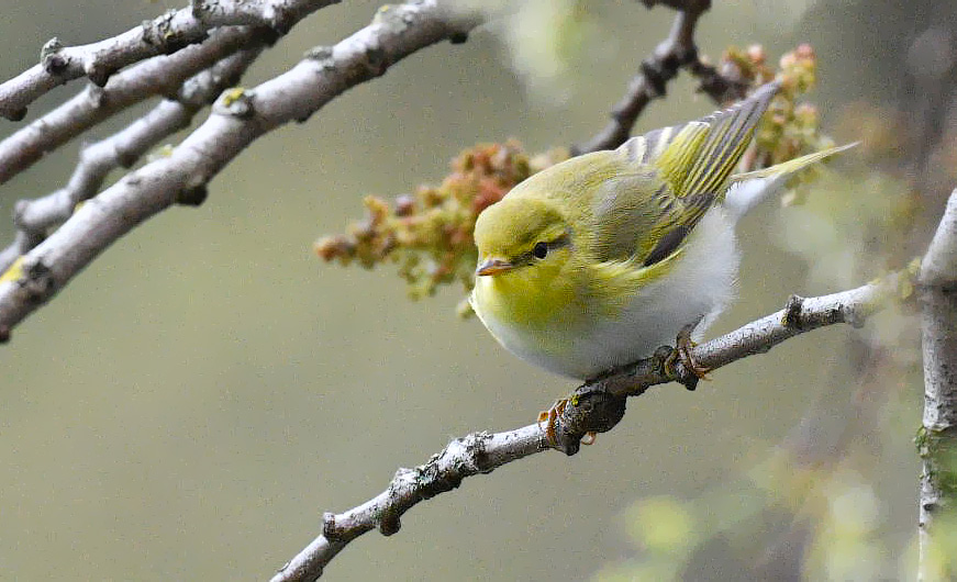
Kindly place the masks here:
MULTIPOLYGON (((774 61, 811 43, 823 131, 865 143, 803 204, 743 222, 741 300, 709 335, 791 293, 902 267, 957 184, 953 3, 714 4, 701 52, 760 43, 774 61)), ((377 7, 318 12, 244 85, 377 7)), ((11 3, 0 77, 35 64, 52 36, 89 43, 168 8, 179 4, 11 3)), ((456 436, 528 424, 572 390, 457 318, 460 289, 411 302, 394 267, 326 265, 312 243, 360 217, 367 193, 438 183, 476 143, 514 137, 536 153, 590 137, 672 18, 631 1, 516 3, 466 44, 413 55, 257 141, 202 206, 110 248, 0 347, 0 578, 265 579, 320 531, 322 512, 378 494, 456 436)), ((694 87, 682 74, 636 132, 715 109, 694 87)), ((78 147, 3 184, 0 216, 59 188, 78 147)), ((12 236, 0 220, 0 240, 12 236)), ((658 387, 596 446, 469 479, 412 510, 400 534, 354 542, 325 578, 913 579, 917 350, 912 314, 893 313, 789 340, 693 393, 658 387)))

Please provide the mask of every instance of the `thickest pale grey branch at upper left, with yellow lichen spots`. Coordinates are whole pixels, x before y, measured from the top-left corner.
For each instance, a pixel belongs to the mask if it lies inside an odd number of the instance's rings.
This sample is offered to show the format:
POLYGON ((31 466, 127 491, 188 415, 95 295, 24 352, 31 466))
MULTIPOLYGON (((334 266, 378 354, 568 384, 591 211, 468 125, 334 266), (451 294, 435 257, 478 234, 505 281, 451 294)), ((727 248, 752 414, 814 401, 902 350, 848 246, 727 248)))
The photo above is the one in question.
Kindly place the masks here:
POLYGON ((210 117, 173 153, 127 175, 80 206, 23 256, 22 277, 0 283, 0 338, 49 301, 118 238, 174 203, 196 204, 207 183, 260 135, 304 121, 340 93, 439 41, 464 42, 481 22, 439 0, 380 9, 369 26, 313 49, 253 90, 226 91, 210 117))

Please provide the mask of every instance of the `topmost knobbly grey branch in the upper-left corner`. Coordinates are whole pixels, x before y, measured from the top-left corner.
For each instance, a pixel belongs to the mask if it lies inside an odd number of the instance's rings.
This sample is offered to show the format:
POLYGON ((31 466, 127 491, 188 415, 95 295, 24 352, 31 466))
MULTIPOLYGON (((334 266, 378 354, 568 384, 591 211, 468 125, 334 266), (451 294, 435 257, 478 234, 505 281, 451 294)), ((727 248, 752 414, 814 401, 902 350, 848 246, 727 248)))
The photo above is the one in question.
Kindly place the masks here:
POLYGON ((202 42, 213 26, 255 24, 285 34, 308 13, 338 0, 193 0, 192 5, 144 22, 123 34, 81 46, 44 45, 41 61, 0 85, 0 116, 20 121, 26 107, 73 79, 88 77, 103 87, 115 71, 156 55, 173 54, 202 42))

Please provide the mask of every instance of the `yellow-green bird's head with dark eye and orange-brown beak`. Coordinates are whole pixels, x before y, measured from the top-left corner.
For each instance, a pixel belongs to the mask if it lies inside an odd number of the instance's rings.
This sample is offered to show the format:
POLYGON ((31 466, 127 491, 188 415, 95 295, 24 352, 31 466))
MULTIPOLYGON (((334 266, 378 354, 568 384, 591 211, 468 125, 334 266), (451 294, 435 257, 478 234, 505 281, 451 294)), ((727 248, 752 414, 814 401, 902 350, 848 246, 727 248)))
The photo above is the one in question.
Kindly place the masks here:
POLYGON ((528 268, 560 268, 571 248, 571 232, 554 201, 505 197, 479 215, 475 242, 477 276, 518 277, 528 268))

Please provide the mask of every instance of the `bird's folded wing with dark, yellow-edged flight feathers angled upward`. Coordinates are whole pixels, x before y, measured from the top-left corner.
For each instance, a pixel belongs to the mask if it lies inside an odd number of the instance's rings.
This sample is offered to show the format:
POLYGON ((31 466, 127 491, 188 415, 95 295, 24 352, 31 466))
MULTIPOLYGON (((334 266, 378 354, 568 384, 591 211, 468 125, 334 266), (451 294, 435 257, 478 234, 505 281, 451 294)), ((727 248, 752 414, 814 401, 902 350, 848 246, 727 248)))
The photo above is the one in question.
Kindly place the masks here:
POLYGON ((778 86, 697 121, 655 130, 617 148, 632 171, 596 201, 600 260, 654 265, 675 253, 720 201, 778 86))

